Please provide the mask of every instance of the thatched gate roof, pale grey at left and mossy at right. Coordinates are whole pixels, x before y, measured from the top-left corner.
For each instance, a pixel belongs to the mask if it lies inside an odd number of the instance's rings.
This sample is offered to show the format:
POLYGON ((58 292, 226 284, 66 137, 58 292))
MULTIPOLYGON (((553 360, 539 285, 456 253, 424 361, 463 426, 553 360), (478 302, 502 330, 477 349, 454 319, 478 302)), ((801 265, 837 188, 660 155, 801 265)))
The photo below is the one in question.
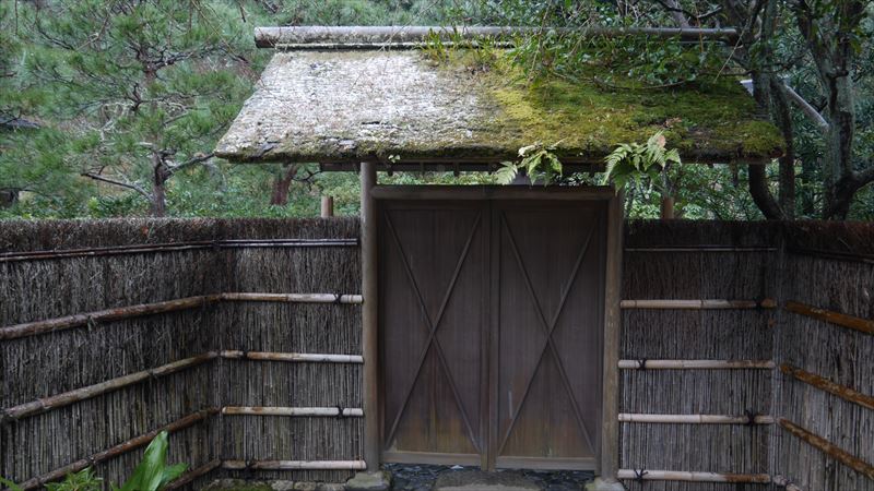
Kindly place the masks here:
POLYGON ((520 147, 540 142, 556 144, 568 164, 600 164, 615 145, 646 141, 659 130, 687 161, 760 163, 782 146, 734 80, 665 89, 618 88, 597 77, 530 85, 473 67, 475 56, 436 62, 423 50, 340 40, 355 49, 304 44, 276 52, 217 155, 466 166, 512 159, 520 147))

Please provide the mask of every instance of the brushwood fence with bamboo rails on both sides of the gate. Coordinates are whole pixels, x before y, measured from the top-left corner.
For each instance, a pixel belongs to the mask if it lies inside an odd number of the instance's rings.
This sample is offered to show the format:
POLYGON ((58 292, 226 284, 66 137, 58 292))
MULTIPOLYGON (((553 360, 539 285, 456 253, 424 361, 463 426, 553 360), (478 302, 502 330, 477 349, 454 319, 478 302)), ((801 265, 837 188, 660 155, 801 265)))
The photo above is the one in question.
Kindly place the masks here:
MULTIPOLYGON (((119 482, 162 428, 191 470, 363 462, 358 221, 0 223, 0 475, 119 482)), ((874 227, 629 223, 629 490, 874 491, 874 227)))

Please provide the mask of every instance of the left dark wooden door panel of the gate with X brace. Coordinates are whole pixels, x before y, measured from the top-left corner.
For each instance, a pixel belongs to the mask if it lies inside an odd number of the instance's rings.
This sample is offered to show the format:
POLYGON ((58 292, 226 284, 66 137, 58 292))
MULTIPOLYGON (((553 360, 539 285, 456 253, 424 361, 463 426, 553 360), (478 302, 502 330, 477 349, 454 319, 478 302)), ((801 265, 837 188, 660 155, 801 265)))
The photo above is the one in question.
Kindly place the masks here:
POLYGON ((381 211, 385 448, 482 452, 483 204, 381 211))

